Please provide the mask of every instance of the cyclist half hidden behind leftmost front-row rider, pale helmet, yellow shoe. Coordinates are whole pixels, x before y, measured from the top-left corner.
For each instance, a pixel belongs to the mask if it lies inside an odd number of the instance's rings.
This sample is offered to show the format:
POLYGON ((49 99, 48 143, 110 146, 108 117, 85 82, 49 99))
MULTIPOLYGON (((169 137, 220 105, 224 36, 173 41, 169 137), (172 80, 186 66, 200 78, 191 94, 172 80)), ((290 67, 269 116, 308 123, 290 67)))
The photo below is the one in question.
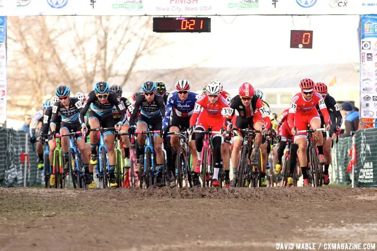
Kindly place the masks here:
MULTIPOLYGON (((51 137, 50 122, 51 122, 51 117, 52 117, 52 105, 54 105, 57 101, 59 101, 59 98, 57 96, 53 97, 52 100, 49 101, 50 105, 46 109, 45 114, 43 115, 41 139, 44 142, 44 140, 46 139, 45 135, 48 135, 47 140, 48 140, 48 146, 49 146, 49 151, 50 151, 50 154, 48 155, 48 159, 50 160, 50 167, 49 167, 50 170, 53 170, 52 167, 54 164, 53 161, 54 161, 54 151, 55 151, 55 143, 52 141, 52 137, 51 137)), ((55 121, 55 124, 56 124, 55 133, 59 133, 60 123, 61 123, 61 116, 60 114, 58 114, 55 121)), ((50 185, 51 186, 55 185, 55 176, 53 174, 50 174, 50 185)))

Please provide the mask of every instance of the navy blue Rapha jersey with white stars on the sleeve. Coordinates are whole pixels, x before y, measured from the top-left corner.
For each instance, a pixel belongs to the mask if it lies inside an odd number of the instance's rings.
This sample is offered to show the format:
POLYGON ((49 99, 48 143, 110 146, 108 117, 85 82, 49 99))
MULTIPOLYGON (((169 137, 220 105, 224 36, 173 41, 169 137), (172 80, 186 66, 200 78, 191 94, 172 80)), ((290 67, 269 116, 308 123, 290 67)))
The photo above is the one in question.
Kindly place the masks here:
POLYGON ((166 113, 162 120, 162 128, 166 129, 169 126, 171 115, 178 117, 190 117, 193 115, 195 102, 198 97, 197 93, 189 92, 186 100, 182 101, 177 91, 171 93, 166 105, 166 113))

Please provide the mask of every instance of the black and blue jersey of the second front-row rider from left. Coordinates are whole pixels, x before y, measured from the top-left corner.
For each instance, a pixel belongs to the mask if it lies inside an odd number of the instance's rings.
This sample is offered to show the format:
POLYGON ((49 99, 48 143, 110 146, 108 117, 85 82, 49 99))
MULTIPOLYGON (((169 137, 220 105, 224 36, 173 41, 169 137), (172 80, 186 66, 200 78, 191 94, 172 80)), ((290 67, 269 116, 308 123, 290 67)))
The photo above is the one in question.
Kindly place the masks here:
POLYGON ((118 100, 117 94, 114 92, 110 92, 106 103, 101 103, 96 93, 91 91, 89 95, 86 97, 84 104, 82 105, 83 108, 80 111, 80 123, 85 123, 84 116, 86 111, 89 109, 93 112, 97 113, 99 116, 110 116, 113 114, 114 106, 120 112, 120 119, 119 121, 123 121, 125 115, 126 107, 118 100))

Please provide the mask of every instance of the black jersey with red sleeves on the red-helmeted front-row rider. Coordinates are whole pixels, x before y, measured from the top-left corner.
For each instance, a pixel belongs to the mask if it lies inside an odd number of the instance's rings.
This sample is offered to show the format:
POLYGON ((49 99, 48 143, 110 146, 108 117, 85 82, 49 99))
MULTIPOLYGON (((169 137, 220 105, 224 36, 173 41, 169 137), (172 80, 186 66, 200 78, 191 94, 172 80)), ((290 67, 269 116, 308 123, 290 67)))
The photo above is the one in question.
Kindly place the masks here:
POLYGON ((245 106, 242 103, 240 96, 237 95, 233 97, 230 102, 230 107, 227 110, 227 118, 225 121, 226 124, 228 124, 232 120, 235 113, 237 116, 249 118, 257 112, 260 112, 266 128, 269 128, 271 126, 271 119, 269 118, 269 115, 272 115, 272 113, 269 111, 269 108, 263 105, 262 100, 256 95, 253 95, 250 104, 245 106))

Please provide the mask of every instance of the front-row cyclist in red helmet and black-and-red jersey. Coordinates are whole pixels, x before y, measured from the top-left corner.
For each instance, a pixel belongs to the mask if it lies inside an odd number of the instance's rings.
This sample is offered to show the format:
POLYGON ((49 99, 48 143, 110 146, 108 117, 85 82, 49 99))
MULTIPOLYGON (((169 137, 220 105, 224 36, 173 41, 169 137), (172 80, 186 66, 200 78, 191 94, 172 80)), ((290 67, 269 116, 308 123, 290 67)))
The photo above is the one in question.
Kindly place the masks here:
MULTIPOLYGON (((250 83, 243 83, 240 85, 237 96, 233 97, 230 104, 230 109, 227 113, 227 118, 225 124, 227 130, 232 128, 231 120, 234 114, 238 113, 236 118, 236 128, 238 129, 255 129, 258 131, 262 130, 262 126, 265 123, 266 128, 263 132, 267 131, 270 127, 271 120, 266 113, 266 108, 264 107, 260 98, 254 95, 254 87, 250 83)), ((235 187, 238 181, 238 166, 240 159, 240 151, 242 147, 243 137, 239 132, 233 133, 233 151, 232 151, 232 167, 233 167, 233 180, 231 182, 231 187, 235 187)), ((253 163, 257 163, 256 159, 259 154, 259 148, 262 144, 262 135, 256 134, 255 136, 255 148, 253 150, 253 163)), ((261 185, 266 186, 265 172, 261 173, 261 185)))

